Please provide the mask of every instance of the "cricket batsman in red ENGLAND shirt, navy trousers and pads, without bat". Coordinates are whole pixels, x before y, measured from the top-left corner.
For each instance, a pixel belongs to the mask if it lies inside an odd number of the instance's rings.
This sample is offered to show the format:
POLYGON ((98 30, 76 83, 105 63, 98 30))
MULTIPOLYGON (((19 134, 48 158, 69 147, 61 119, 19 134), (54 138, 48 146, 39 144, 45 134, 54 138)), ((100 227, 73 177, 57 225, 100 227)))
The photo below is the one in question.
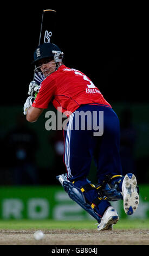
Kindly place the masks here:
POLYGON ((119 221, 110 201, 124 200, 127 215, 137 209, 137 180, 132 173, 122 175, 120 125, 112 106, 85 74, 66 67, 62 59, 63 52, 55 44, 44 43, 36 48, 34 64, 38 75, 29 84, 30 96, 24 104, 24 114, 27 121, 33 123, 48 108, 49 102, 56 109, 60 107, 62 113, 68 113, 63 156, 67 174, 61 174, 60 170, 56 178, 69 197, 98 221, 98 230, 109 230, 119 221), (39 85, 41 77, 43 81, 39 85), (82 113, 89 113, 90 117, 83 115, 83 129, 82 124, 78 124, 82 113), (97 133, 96 127, 100 127, 101 122, 103 132, 97 133), (87 179, 92 159, 98 185, 87 179))

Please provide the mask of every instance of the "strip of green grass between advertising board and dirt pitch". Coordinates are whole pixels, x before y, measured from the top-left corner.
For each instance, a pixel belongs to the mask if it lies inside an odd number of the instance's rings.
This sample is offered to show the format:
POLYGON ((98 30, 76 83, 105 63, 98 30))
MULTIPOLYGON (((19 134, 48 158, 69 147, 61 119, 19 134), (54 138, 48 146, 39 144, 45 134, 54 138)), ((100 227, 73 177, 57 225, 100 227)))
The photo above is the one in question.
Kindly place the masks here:
MULTIPOLYGON (((3 220, 0 221, 0 230, 27 230, 27 229, 96 229, 96 221, 51 221, 51 220, 3 220)), ((149 219, 120 220, 114 229, 149 229, 149 219)))

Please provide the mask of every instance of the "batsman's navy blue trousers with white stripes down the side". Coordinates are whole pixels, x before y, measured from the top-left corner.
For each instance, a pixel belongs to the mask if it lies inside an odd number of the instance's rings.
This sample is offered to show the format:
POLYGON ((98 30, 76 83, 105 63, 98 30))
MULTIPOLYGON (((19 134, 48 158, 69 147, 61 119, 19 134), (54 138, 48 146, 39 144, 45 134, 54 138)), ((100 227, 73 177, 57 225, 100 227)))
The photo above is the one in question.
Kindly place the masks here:
MULTIPOLYGON (((67 167, 68 179, 87 177, 90 164, 94 159, 97 169, 98 182, 101 183, 105 175, 122 175, 120 160, 120 125, 119 119, 112 108, 100 105, 82 105, 70 115, 68 129, 64 131, 65 151, 64 163, 67 167), (85 129, 75 130, 76 115, 81 111, 91 114, 86 115, 85 129), (93 114, 97 113, 97 126, 100 125, 99 112, 103 112, 103 135, 94 136, 93 114), (91 117, 91 118, 90 118, 91 117), (92 122, 90 119, 92 119, 92 122), (90 123, 88 125, 88 123, 90 123), (88 126, 90 130, 88 130, 88 126)), ((79 124, 79 129, 81 125, 79 124)))

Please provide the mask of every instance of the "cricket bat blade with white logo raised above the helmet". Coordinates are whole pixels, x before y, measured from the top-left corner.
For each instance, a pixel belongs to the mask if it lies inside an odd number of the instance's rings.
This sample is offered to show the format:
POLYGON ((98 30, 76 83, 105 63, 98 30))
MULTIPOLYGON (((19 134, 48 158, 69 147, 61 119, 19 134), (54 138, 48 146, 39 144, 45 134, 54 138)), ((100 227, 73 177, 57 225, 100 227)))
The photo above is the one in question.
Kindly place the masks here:
POLYGON ((55 42, 56 39, 56 11, 51 9, 43 10, 40 39, 38 45, 55 42))

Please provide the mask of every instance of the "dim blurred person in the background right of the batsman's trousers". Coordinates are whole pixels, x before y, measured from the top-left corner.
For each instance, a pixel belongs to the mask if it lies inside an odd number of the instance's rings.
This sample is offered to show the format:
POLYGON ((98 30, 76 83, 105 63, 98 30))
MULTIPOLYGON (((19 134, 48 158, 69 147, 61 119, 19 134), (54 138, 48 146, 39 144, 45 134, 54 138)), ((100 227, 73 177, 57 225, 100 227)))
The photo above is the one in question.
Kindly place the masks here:
POLYGON ((124 109, 121 113, 120 129, 120 155, 123 174, 128 172, 136 173, 134 149, 137 139, 137 130, 132 124, 132 112, 130 109, 124 109))

